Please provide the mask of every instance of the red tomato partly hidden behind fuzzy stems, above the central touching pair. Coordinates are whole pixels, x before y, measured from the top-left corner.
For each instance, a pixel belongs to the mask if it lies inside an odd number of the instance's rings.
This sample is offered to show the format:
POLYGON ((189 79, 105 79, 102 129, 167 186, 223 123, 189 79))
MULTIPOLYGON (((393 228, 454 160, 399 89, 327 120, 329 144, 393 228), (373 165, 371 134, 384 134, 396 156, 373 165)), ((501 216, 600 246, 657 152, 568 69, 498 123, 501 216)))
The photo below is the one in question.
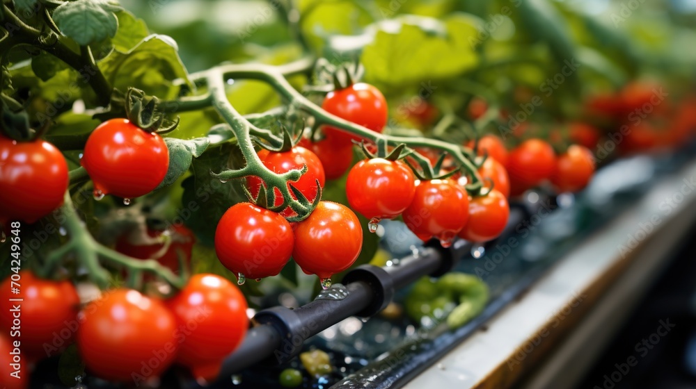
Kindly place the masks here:
MULTIPOLYGON (((307 197, 309 201, 313 201, 315 197, 317 197, 317 180, 319 180, 319 185, 321 185, 322 188, 324 188, 324 183, 326 183, 324 166, 319 160, 319 157, 312 151, 301 146, 293 147, 290 151, 283 151, 282 153, 271 151, 262 162, 271 172, 278 174, 289 172, 292 169, 302 169, 304 165, 307 165, 307 172, 303 174, 298 181, 287 183, 287 185, 288 188, 290 188, 290 185, 294 186, 302 195, 307 197)), ((246 185, 249 192, 251 192, 251 195, 254 197, 258 196, 261 183, 262 180, 258 176, 248 176, 246 178, 246 185)), ((292 191, 290 193, 292 193, 292 191)), ((283 199, 280 197, 280 191, 276 190, 275 205, 279 206, 282 203, 283 199)), ((283 216, 292 216, 294 215, 294 211, 288 207, 285 208, 281 214, 283 216)))

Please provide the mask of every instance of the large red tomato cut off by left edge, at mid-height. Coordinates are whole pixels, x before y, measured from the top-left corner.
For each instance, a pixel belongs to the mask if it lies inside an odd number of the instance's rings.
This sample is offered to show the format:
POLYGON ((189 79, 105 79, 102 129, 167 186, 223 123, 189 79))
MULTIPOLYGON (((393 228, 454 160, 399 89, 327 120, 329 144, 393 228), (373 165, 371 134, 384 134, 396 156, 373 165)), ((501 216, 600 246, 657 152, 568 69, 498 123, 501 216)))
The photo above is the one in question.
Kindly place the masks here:
POLYGON ((43 140, 17 142, 0 135, 0 220, 33 223, 63 204, 68 163, 43 140))

